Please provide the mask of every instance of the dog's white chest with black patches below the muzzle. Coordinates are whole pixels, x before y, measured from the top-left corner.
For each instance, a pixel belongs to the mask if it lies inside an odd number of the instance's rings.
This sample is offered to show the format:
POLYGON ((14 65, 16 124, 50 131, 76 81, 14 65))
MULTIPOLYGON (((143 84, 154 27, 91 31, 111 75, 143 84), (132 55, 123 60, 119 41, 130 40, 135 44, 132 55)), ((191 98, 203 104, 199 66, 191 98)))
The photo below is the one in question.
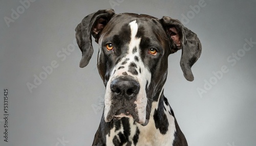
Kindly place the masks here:
POLYGON ((173 145, 175 139, 175 118, 170 114, 169 106, 164 106, 164 114, 167 117, 167 131, 163 134, 160 128, 156 128, 156 119, 153 118, 154 110, 147 126, 141 126, 132 118, 123 118, 115 122, 110 133, 106 135, 106 145, 173 145))

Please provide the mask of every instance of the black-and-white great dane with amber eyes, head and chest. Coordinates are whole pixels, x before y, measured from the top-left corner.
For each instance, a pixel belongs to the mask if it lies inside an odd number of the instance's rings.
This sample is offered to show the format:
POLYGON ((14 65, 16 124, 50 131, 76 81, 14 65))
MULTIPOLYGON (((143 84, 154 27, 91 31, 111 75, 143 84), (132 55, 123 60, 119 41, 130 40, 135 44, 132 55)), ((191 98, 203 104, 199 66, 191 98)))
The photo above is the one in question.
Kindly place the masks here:
POLYGON ((180 21, 163 16, 99 10, 75 29, 82 52, 80 67, 99 44, 97 67, 105 86, 104 110, 93 145, 187 145, 163 94, 168 56, 182 50, 181 69, 188 81, 201 55, 197 35, 180 21))

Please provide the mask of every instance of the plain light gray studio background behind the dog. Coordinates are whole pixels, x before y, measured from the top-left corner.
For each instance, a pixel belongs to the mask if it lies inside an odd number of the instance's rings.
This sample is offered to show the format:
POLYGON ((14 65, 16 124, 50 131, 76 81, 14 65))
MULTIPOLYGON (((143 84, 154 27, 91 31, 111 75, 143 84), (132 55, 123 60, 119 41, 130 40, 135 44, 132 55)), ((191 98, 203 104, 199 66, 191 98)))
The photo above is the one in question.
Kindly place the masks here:
MULTIPOLYGON (((22 0, 24 1, 24 0, 22 0)), ((31 0, 32 1, 32 0, 31 0)), ((201 0, 202 1, 202 0, 201 0)), ((116 13, 133 12, 161 18, 184 19, 197 33, 202 55, 188 82, 179 66, 181 51, 169 56, 164 93, 189 145, 216 146, 256 144, 256 44, 234 64, 233 54, 243 53, 245 39, 256 41, 256 1, 210 1, 195 13, 199 0, 184 1, 35 1, 8 27, 4 17, 12 9, 22 11, 19 1, 0 6, 0 145, 91 145, 98 128, 104 96, 96 68, 98 45, 85 68, 79 68, 81 52, 63 57, 62 48, 74 46, 75 27, 99 9, 114 7, 116 13), (110 3, 111 2, 111 3, 110 3), (120 3, 120 4, 119 4, 120 3), (194 14, 194 15, 193 15, 194 14), (58 57, 62 55, 62 57, 58 57), (231 56, 231 57, 230 57, 231 56), (29 91, 27 83, 44 74, 43 66, 56 61, 45 80, 29 91), (228 72, 215 80, 225 65, 228 72), (204 87, 205 82, 214 83, 204 87), (217 83, 216 83, 217 81, 217 83), (4 142, 4 89, 9 89, 9 142, 4 142), (207 89, 200 96, 198 89, 207 89), (65 142, 60 142, 62 140, 65 142)), ((249 47, 250 45, 246 45, 249 47)), ((71 47, 72 48, 72 47, 71 47)), ((206 85, 205 85, 206 86, 206 85)))

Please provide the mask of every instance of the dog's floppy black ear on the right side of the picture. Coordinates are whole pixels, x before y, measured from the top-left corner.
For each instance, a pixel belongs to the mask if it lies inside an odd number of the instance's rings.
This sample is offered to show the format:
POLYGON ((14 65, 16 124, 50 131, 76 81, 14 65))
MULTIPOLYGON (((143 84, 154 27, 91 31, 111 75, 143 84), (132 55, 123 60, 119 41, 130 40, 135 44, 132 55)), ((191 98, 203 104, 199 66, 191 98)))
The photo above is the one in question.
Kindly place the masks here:
POLYGON ((183 75, 188 81, 193 81, 191 66, 198 60, 202 52, 197 34, 184 27, 179 20, 167 16, 163 16, 160 22, 169 38, 171 54, 182 49, 180 66, 183 75))

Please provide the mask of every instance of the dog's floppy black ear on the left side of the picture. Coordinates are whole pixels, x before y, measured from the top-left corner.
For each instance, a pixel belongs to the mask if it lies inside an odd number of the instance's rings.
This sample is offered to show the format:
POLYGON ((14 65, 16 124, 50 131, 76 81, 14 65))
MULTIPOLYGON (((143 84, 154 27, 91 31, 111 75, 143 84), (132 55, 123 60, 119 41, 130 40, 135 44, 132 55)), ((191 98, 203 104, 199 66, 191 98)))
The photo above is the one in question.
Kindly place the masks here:
POLYGON ((113 9, 99 10, 84 17, 81 23, 77 25, 75 31, 76 41, 82 52, 82 59, 79 64, 81 68, 87 66, 92 57, 92 36, 98 43, 100 32, 103 30, 106 23, 110 21, 114 14, 115 12, 113 9))

